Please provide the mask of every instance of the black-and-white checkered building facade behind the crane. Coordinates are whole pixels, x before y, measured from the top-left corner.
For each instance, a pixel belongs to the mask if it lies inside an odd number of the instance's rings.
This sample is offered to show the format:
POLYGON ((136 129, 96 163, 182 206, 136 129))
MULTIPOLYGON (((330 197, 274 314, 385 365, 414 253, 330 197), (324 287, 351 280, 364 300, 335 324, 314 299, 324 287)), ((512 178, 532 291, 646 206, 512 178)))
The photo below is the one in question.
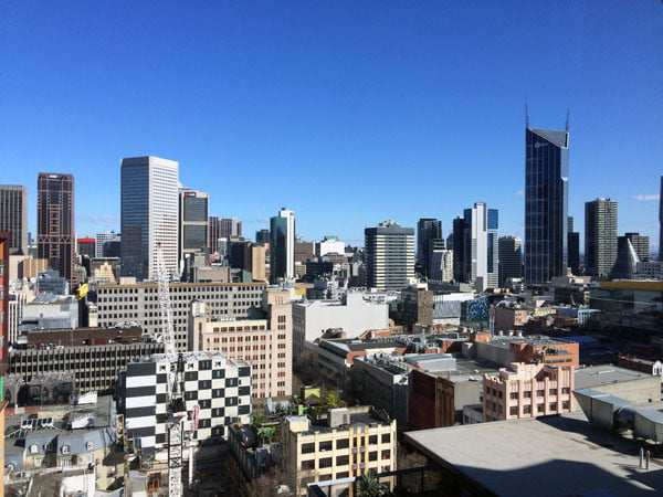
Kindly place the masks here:
MULTIPOLYGON (((227 438, 232 423, 250 423, 251 366, 220 352, 182 352, 185 403, 189 419, 200 406, 198 441, 227 438)), ((176 357, 154 355, 127 364, 120 378, 120 410, 129 441, 144 452, 159 451, 168 440, 168 370, 176 357), (139 442, 138 442, 139 441, 139 442)))

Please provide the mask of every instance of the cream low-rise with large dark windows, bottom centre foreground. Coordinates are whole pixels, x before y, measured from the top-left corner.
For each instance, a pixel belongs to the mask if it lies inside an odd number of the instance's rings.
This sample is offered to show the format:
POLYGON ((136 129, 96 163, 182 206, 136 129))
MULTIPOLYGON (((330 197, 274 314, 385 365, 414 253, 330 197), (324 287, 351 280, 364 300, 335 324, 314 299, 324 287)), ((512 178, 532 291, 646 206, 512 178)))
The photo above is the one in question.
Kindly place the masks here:
POLYGON ((306 495, 313 482, 396 470, 396 420, 370 406, 332 409, 320 424, 306 416, 286 417, 281 443, 284 469, 296 478, 297 495, 306 495))

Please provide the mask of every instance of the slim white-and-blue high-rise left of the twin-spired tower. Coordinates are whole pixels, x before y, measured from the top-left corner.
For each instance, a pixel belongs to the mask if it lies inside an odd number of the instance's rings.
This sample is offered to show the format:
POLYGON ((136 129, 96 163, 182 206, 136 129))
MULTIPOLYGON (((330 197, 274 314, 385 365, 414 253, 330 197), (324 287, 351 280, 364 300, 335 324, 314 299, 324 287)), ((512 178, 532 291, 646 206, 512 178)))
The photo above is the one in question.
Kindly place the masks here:
POLYGON ((463 273, 465 281, 474 283, 478 292, 495 288, 498 284, 497 209, 484 202, 465 209, 463 273))

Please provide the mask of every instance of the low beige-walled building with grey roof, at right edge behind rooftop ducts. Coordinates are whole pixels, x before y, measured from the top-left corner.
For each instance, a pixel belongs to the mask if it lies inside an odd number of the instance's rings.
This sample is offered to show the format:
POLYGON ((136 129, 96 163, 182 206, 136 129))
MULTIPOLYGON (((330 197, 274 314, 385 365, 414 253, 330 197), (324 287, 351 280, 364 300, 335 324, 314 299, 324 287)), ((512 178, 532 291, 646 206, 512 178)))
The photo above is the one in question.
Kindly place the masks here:
POLYGON ((661 377, 612 364, 576 370, 577 390, 591 389, 634 403, 661 400, 661 377))

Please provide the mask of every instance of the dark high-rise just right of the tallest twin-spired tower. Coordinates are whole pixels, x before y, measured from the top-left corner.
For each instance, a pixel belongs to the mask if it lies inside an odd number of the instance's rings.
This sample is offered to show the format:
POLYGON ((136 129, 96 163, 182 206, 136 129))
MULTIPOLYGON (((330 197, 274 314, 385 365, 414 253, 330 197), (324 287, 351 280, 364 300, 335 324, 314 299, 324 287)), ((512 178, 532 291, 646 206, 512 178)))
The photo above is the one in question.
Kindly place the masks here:
POLYGON ((585 203, 585 272, 608 276, 617 261, 617 202, 597 199, 585 203))

